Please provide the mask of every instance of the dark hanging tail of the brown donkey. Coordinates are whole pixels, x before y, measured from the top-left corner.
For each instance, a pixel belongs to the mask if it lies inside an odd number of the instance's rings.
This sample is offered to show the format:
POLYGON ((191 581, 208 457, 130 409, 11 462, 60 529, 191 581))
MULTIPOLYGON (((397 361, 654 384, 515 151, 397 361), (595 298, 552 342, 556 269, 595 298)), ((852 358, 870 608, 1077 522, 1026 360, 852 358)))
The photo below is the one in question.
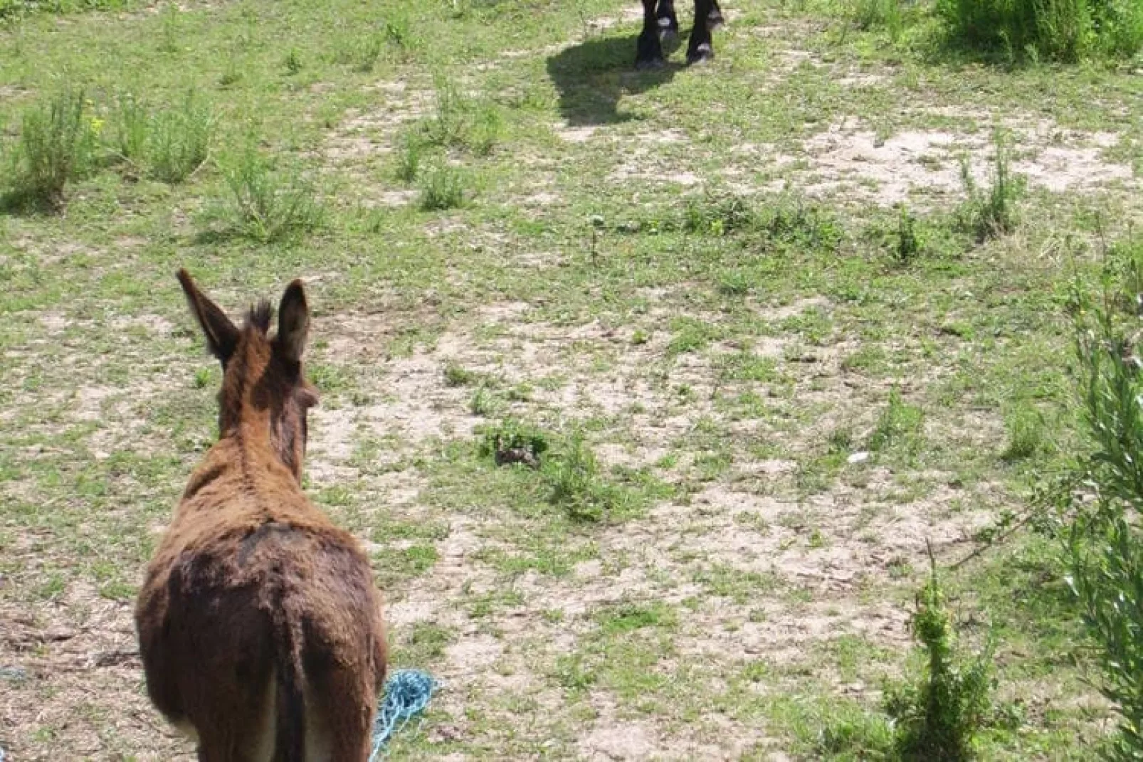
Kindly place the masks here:
POLYGON ((302 623, 290 607, 274 619, 274 762, 305 762, 305 673, 302 668, 302 623))

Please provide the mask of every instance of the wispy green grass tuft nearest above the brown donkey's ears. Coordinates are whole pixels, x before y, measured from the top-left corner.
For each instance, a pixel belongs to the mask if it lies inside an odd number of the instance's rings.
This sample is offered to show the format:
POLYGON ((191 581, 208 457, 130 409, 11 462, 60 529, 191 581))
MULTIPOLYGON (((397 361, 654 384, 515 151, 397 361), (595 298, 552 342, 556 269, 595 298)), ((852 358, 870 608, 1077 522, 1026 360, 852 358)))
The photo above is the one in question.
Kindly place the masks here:
POLYGON ((275 169, 253 142, 223 168, 230 191, 223 215, 230 230, 262 243, 314 230, 321 208, 297 169, 275 169))

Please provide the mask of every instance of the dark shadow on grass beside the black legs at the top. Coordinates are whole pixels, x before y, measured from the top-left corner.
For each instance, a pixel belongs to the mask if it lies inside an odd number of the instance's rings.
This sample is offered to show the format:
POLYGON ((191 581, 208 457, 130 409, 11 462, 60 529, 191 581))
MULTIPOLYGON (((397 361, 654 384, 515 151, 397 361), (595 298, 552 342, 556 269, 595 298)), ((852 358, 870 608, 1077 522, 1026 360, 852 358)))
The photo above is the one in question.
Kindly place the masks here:
MULTIPOLYGON (((559 90, 560 114, 569 126, 610 125, 631 119, 618 111, 624 95, 645 93, 670 82, 680 64, 668 62, 660 69, 637 71, 636 40, 608 37, 586 40, 547 58, 547 75, 559 90)), ((678 47, 678 40, 663 43, 663 55, 678 47)))

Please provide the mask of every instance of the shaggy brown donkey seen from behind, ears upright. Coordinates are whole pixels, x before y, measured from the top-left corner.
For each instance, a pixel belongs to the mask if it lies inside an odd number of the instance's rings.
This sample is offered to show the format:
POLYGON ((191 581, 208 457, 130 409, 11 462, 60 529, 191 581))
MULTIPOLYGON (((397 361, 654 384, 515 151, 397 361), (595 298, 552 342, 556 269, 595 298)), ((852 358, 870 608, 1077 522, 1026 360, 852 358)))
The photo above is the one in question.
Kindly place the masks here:
POLYGON ((310 313, 286 289, 242 328, 178 272, 222 361, 218 442, 191 475, 135 610, 151 700, 203 762, 362 762, 385 676, 357 540, 302 492, 310 313))

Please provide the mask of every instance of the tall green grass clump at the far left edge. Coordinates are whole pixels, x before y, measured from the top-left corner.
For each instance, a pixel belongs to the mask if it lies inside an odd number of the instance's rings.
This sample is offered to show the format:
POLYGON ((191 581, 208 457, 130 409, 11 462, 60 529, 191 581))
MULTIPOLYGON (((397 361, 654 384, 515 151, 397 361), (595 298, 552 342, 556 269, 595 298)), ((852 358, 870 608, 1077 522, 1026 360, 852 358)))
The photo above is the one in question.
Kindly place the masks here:
POLYGON ((95 167, 101 125, 83 90, 72 87, 27 109, 10 155, 5 206, 62 208, 67 183, 95 167))

